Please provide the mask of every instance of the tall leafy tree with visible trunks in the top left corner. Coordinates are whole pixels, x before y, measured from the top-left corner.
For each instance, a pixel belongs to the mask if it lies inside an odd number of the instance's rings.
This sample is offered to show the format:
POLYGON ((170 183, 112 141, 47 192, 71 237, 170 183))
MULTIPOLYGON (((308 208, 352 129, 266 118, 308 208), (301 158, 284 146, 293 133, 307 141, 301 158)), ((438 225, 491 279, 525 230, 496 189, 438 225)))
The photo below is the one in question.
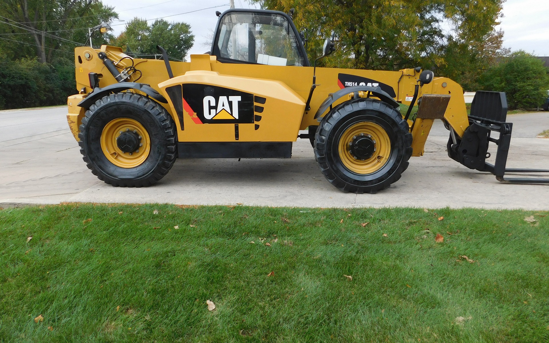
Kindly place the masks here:
POLYGON ((0 50, 4 57, 51 63, 59 51, 70 55, 86 44, 88 27, 117 17, 100 0, 3 0, 0 50))

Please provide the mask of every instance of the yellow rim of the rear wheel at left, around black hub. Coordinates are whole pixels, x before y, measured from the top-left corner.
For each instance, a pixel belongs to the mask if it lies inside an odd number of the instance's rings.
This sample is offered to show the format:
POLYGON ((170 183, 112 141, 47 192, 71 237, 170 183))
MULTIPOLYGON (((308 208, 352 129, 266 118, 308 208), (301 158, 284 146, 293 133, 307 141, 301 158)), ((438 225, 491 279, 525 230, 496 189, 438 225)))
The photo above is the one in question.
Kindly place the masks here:
POLYGON ((116 118, 111 120, 103 128, 101 133, 101 149, 107 159, 117 167, 133 168, 141 165, 150 153, 150 137, 145 127, 135 119, 116 118), (122 151, 116 139, 122 132, 134 132, 141 144, 130 153, 122 151))

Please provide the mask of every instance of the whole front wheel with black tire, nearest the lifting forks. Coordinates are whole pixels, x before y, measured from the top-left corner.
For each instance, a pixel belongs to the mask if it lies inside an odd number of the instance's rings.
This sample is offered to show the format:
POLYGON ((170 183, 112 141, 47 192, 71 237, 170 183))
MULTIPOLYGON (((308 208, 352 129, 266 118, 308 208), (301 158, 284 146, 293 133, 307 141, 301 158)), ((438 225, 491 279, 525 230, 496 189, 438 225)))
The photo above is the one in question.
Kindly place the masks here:
POLYGON ((412 134, 399 111, 374 99, 352 99, 324 116, 315 159, 343 192, 376 193, 398 181, 412 155, 412 134))

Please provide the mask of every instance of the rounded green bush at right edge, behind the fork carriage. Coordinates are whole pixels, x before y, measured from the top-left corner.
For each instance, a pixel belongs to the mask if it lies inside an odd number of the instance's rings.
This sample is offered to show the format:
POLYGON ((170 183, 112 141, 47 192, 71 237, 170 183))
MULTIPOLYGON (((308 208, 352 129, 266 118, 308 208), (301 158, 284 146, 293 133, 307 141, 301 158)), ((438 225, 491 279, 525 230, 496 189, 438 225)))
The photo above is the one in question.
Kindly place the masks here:
POLYGON ((484 91, 505 92, 509 109, 535 108, 547 97, 548 69, 542 60, 520 50, 481 75, 484 91))

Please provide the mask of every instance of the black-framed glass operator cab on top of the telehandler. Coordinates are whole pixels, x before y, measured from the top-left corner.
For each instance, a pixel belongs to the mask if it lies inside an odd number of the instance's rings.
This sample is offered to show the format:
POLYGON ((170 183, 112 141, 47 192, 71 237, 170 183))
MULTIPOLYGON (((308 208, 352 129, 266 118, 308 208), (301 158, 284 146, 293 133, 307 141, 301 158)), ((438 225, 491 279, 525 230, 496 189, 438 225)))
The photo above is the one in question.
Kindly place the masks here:
POLYGON ((223 63, 310 65, 292 18, 271 10, 227 10, 217 22, 211 51, 223 63))

